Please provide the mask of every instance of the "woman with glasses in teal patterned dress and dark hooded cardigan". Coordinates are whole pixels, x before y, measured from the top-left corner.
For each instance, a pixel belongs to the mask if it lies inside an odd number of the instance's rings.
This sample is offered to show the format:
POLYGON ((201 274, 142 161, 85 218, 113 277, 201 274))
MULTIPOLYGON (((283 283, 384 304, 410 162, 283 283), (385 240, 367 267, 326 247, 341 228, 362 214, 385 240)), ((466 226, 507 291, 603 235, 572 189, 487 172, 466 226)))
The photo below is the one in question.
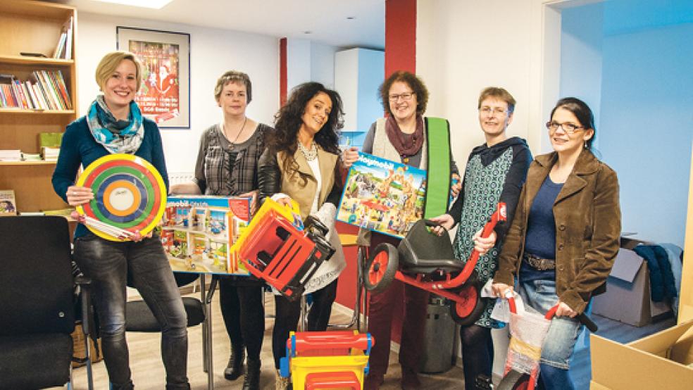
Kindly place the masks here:
MULTIPOLYGON (((498 252, 509 222, 496 226, 487 239, 480 237, 482 228, 499 202, 506 203, 508 221, 520 197, 520 189, 532 161, 527 142, 518 137, 506 137, 506 129, 513 121, 515 99, 503 88, 489 87, 479 96, 479 124, 484 132, 485 144, 475 147, 469 155, 462 191, 447 214, 432 218, 442 227, 451 229, 459 223, 453 243, 455 257, 469 258, 473 249, 482 253, 475 270, 480 284, 492 279, 498 266, 498 252)), ((438 234, 444 230, 435 228, 438 234)), ((475 389, 479 375, 490 378, 493 367, 493 341, 491 329, 503 327, 491 318, 495 299, 485 298, 485 310, 473 324, 460 329, 462 360, 466 390, 475 389)))

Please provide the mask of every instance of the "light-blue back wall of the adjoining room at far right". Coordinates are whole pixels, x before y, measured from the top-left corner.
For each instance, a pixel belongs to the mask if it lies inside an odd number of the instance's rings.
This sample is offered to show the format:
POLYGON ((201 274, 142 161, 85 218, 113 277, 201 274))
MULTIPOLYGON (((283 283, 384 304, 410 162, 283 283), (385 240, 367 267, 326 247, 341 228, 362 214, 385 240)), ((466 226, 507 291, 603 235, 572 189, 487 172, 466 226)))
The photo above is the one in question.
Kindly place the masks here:
POLYGON ((618 173, 624 231, 683 246, 693 141, 693 24, 604 38, 599 150, 618 173))

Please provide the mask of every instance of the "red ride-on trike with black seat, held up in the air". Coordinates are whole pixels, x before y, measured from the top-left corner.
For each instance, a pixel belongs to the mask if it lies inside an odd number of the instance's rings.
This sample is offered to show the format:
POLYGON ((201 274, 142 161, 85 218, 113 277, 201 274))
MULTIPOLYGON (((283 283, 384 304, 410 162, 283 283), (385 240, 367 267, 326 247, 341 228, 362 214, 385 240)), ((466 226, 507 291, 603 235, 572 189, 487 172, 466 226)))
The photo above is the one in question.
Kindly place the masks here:
MULTIPOLYGON (((489 237, 497 222, 506 220, 506 205, 499 203, 482 237, 489 237)), ((460 325, 473 324, 484 310, 477 272, 479 252, 472 251, 466 263, 456 260, 447 234, 438 236, 429 220, 416 222, 399 246, 380 244, 370 254, 364 275, 366 289, 373 294, 385 291, 393 279, 430 291, 450 302, 452 318, 460 325)))

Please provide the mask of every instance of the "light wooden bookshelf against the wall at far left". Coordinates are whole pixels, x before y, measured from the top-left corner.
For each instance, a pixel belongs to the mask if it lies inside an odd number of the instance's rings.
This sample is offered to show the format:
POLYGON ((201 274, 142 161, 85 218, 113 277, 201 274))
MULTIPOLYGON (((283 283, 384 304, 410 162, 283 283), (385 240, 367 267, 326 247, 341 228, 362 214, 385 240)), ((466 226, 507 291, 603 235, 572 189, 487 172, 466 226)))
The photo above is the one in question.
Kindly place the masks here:
MULTIPOLYGON (((26 0, 0 1, 0 74, 30 80, 36 70, 60 70, 72 107, 77 107, 77 72, 74 59, 51 58, 63 25, 73 18, 72 58, 75 58, 77 11, 70 6, 26 0), (44 54, 47 58, 22 56, 44 54)), ((2 82, 6 82, 3 80, 2 82)), ((73 110, 0 108, 0 149, 39 153, 39 133, 64 132, 77 118, 73 110)), ((0 189, 13 189, 19 211, 64 208, 53 191, 55 162, 0 161, 0 189)))

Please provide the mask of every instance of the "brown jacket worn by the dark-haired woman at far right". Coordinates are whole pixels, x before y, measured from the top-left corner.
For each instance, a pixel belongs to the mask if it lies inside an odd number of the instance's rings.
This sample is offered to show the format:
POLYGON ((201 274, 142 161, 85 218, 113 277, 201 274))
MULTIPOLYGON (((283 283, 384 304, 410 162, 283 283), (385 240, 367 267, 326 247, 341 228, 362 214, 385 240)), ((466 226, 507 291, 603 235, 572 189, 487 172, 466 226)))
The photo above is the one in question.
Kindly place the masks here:
MULTIPOLYGON (((525 247, 527 217, 537 191, 556 163, 556 152, 537 156, 508 230, 495 282, 513 285, 525 247)), ((583 150, 554 202, 556 220, 556 294, 577 313, 589 298, 606 291, 606 277, 620 237, 618 179, 608 165, 583 150)))

